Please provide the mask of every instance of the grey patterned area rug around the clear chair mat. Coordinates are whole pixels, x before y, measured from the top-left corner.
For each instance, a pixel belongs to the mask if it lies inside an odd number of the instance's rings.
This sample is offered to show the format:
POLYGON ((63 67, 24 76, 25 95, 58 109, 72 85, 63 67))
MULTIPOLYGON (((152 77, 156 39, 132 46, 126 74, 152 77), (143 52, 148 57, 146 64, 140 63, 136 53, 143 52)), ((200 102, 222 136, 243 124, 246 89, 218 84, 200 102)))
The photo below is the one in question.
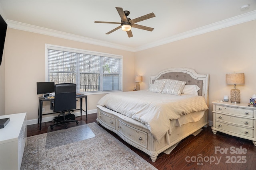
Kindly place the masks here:
POLYGON ((20 169, 156 170, 96 123, 87 125, 95 137, 52 149, 45 149, 47 133, 28 137, 20 169))

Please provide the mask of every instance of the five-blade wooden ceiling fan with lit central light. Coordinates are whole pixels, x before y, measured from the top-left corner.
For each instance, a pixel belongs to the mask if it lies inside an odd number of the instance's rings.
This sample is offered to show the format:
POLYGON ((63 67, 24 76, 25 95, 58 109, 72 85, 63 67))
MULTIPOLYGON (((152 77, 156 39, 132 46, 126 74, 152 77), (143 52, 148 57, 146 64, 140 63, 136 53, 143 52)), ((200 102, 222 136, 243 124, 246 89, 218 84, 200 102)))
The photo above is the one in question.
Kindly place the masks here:
POLYGON ((123 8, 119 8, 116 7, 116 10, 119 14, 119 16, 121 17, 121 22, 105 22, 105 21, 94 21, 94 23, 114 23, 114 24, 121 24, 120 26, 116 27, 115 29, 112 29, 111 31, 107 32, 106 34, 110 34, 116 30, 118 30, 119 28, 121 28, 123 31, 127 32, 128 37, 132 37, 132 31, 131 28, 138 28, 138 29, 144 29, 146 31, 153 31, 154 28, 151 27, 146 27, 143 25, 138 25, 135 24, 137 22, 140 21, 144 21, 144 20, 148 20, 150 18, 155 17, 155 14, 152 12, 150 14, 135 18, 133 20, 131 20, 130 18, 127 18, 127 16, 129 16, 130 12, 129 11, 124 11, 123 8))

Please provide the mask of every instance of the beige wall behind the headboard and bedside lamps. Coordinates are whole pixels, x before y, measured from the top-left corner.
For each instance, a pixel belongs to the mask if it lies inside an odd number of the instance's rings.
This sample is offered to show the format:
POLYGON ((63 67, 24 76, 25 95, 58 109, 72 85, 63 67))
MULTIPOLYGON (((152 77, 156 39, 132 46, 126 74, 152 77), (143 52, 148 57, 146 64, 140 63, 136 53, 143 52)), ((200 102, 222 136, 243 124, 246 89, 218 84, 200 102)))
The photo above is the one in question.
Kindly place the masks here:
POLYGON ((237 87, 241 101, 248 103, 250 96, 256 94, 255 20, 136 53, 135 74, 143 76, 141 89, 148 88, 151 75, 170 67, 188 67, 200 74, 210 74, 211 121, 211 102, 230 96, 233 88, 225 84, 226 73, 244 72, 245 84, 237 87))

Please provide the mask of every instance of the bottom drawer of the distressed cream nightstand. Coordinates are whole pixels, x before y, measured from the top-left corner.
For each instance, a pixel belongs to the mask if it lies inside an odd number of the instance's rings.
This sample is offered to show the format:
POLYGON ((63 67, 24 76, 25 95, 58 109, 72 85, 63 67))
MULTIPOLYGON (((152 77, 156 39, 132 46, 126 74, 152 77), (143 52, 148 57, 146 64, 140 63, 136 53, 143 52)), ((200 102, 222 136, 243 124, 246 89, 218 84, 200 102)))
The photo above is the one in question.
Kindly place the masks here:
POLYGON ((254 137, 254 130, 244 127, 237 127, 234 125, 229 125, 223 122, 216 121, 216 128, 222 129, 224 131, 229 131, 231 133, 236 133, 238 135, 243 135, 246 137, 254 137))

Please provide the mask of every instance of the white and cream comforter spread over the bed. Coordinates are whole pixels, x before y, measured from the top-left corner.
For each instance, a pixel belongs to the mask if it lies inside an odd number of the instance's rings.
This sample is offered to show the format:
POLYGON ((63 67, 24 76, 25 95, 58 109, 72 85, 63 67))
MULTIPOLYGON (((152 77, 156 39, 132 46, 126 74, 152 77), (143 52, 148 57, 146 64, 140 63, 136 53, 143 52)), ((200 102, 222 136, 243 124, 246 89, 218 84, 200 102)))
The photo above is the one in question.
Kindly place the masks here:
POLYGON ((170 121, 208 109, 202 96, 174 96, 148 90, 106 94, 98 105, 144 123, 157 141, 168 132, 170 121))

